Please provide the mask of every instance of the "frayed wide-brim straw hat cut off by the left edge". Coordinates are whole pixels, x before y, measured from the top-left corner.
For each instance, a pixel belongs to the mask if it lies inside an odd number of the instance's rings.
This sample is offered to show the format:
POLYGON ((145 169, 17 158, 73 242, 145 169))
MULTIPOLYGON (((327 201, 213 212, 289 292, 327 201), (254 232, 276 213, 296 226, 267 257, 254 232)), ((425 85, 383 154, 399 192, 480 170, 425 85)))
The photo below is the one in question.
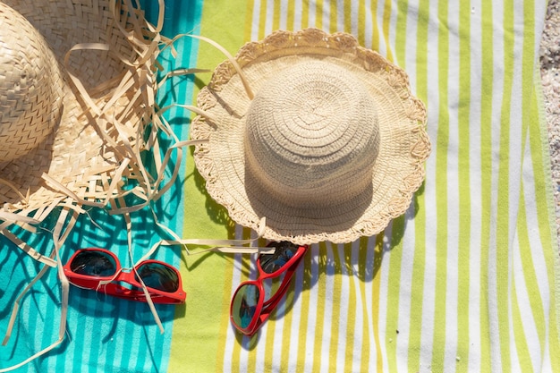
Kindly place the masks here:
POLYGON ((124 196, 159 191, 140 154, 159 151, 163 37, 127 4, 0 0, 0 232, 19 245, 5 228, 57 206, 126 212, 124 196))

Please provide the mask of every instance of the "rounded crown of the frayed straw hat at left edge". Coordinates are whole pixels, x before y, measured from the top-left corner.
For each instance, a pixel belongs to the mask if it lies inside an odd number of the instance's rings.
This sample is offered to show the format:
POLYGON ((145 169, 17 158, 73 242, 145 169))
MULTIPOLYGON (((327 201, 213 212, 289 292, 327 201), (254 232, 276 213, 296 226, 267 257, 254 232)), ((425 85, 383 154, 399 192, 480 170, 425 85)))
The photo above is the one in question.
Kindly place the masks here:
POLYGON ((22 157, 47 139, 61 118, 63 81, 55 55, 30 22, 0 3, 0 162, 22 157))

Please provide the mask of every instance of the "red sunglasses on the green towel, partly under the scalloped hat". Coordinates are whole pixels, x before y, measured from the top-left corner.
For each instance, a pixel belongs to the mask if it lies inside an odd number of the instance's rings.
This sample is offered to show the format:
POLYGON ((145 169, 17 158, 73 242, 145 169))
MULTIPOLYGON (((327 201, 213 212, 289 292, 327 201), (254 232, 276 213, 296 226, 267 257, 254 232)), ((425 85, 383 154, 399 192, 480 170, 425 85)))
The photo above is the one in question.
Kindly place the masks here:
POLYGON ((276 250, 259 255, 259 278, 240 284, 230 305, 232 324, 244 335, 254 335, 282 300, 308 249, 292 242, 270 242, 267 246, 276 250))

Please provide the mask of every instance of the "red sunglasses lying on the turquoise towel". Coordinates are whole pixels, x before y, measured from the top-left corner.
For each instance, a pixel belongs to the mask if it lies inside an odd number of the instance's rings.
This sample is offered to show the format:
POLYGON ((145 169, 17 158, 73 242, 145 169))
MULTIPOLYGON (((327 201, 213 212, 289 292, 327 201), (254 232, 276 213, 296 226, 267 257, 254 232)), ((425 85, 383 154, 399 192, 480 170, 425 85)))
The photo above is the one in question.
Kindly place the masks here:
POLYGON ((179 271, 167 263, 144 260, 134 270, 125 272, 116 255, 104 249, 76 251, 64 265, 64 274, 76 286, 132 301, 146 301, 138 276, 154 303, 183 303, 187 296, 179 271), (100 284, 101 281, 109 283, 100 284))

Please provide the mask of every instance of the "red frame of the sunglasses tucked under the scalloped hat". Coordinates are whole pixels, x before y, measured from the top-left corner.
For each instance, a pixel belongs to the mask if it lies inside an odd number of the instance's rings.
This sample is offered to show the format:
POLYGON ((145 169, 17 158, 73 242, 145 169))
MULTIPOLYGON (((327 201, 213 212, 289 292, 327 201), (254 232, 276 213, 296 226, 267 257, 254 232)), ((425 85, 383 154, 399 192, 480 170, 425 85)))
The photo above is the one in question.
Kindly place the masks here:
MULTIPOLYGON (((268 246, 274 246, 276 242, 271 242, 268 246)), ((260 266, 260 258, 262 255, 268 254, 260 254, 259 258, 257 259, 257 268, 259 269, 259 277, 256 280, 244 281, 242 284, 239 284, 235 292, 233 293, 232 301, 230 303, 230 320, 235 326, 237 330, 239 330, 243 335, 254 335, 262 326, 267 318, 270 316, 272 311, 276 309, 278 303, 284 297, 285 292, 288 290, 289 284, 292 281, 293 274, 295 273, 296 268, 299 266, 301 259, 303 259, 305 252, 309 249, 308 245, 300 245, 296 250, 293 257, 290 258, 283 267, 276 270, 271 274, 267 274, 262 267, 260 266), (277 276, 282 275, 282 273, 286 273, 284 279, 282 280, 282 284, 278 287, 278 290, 268 299, 265 301, 265 288, 263 286, 263 281, 269 278, 275 278, 277 276), (257 308, 255 309, 255 313, 253 318, 250 320, 250 323, 247 327, 239 326, 233 320, 233 301, 235 301, 235 297, 237 296, 237 292, 244 285, 255 285, 259 289, 259 301, 257 302, 257 308)))

